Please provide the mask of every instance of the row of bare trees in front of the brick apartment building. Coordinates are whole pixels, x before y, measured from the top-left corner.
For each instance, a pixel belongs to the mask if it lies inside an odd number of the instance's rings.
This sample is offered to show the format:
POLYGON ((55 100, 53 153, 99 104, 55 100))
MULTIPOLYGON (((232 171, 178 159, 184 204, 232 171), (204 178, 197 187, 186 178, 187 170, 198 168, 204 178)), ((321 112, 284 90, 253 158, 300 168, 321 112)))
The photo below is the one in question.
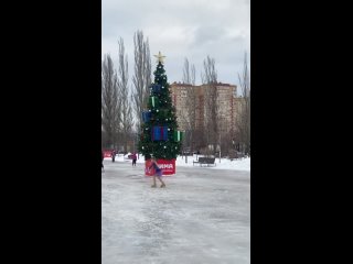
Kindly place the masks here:
POLYGON ((195 67, 185 58, 183 66, 183 84, 185 84, 185 111, 180 119, 185 124, 184 150, 204 154, 214 154, 222 150, 222 155, 234 151, 250 154, 250 79, 245 54, 243 73, 238 74, 242 97, 236 100, 235 129, 223 117, 217 90, 217 72, 214 58, 207 56, 203 62, 201 79, 207 87, 200 98, 194 88, 195 67), (202 101, 201 101, 202 100, 202 101), (203 123, 197 118, 203 116, 203 123), (199 125, 196 123, 199 122, 199 125))

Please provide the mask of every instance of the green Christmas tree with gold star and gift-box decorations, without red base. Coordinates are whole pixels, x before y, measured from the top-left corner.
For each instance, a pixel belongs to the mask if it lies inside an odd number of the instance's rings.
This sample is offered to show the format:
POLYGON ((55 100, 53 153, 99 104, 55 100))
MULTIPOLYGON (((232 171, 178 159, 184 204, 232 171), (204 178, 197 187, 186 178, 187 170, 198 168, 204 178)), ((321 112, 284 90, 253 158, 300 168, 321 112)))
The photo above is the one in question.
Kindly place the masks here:
POLYGON ((141 113, 143 123, 140 131, 138 151, 149 160, 151 155, 156 158, 173 160, 180 153, 183 132, 178 131, 175 108, 172 100, 164 74, 163 57, 158 58, 154 70, 154 82, 150 86, 147 109, 141 113))

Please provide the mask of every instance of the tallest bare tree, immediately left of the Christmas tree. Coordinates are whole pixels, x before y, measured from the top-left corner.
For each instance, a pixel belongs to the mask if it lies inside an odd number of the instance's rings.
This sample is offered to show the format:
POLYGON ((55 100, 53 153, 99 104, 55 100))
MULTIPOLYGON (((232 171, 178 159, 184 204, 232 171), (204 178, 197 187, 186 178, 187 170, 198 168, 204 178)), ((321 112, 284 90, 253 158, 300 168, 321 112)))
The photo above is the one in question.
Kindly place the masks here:
POLYGON ((147 106, 149 97, 149 86, 151 85, 151 57, 148 38, 143 41, 143 32, 137 31, 133 35, 135 44, 135 76, 132 82, 133 107, 136 113, 137 131, 140 131, 141 112, 147 106))

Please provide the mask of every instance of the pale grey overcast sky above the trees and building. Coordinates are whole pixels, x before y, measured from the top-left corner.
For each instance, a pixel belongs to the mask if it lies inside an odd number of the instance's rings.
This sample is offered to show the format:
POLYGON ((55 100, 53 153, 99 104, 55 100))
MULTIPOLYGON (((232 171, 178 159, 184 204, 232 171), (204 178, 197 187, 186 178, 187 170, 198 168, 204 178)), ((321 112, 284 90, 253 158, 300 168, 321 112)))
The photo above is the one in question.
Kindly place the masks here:
POLYGON ((133 75, 133 33, 149 38, 152 70, 160 51, 165 55, 169 84, 182 81, 184 58, 195 65, 201 84, 203 61, 215 59, 218 81, 238 85, 244 53, 250 65, 250 0, 101 0, 101 55, 116 63, 121 36, 133 75))

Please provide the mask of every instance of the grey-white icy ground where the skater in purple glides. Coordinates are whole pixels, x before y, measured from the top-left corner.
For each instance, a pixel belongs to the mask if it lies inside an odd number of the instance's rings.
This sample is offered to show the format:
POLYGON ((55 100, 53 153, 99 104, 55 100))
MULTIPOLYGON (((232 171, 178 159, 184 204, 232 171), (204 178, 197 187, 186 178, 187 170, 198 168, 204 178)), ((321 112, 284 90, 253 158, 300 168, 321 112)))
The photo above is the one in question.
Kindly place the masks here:
POLYGON ((106 158, 101 263, 250 263, 247 160, 245 170, 176 161, 176 174, 163 177, 167 188, 151 188, 142 161, 132 167, 106 158))

